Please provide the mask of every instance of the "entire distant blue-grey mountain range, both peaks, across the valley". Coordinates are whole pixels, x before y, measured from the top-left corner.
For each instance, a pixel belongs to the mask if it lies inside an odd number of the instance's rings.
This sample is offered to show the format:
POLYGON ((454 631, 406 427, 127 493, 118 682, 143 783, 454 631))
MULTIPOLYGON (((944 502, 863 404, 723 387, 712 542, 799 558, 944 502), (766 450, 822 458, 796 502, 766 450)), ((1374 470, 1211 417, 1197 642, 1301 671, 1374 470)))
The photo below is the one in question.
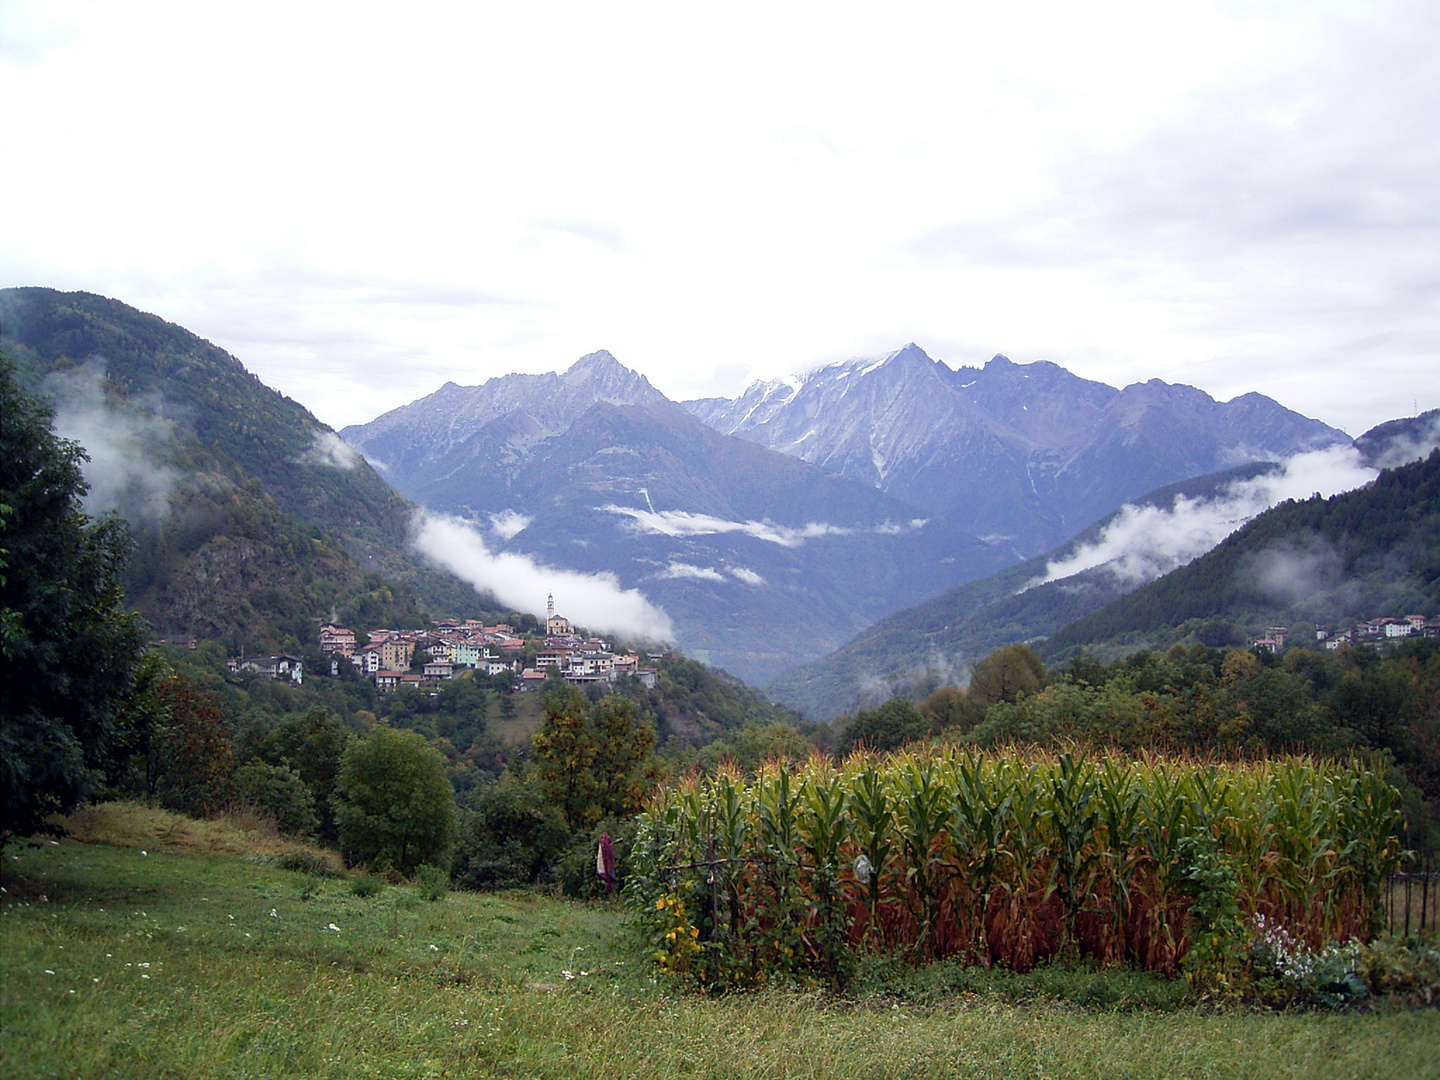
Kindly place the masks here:
POLYGON ((683 406, 602 350, 341 435, 488 550, 615 575, 685 651, 757 683, 1159 485, 1349 445, 1260 395, 952 370, 914 344, 683 406))

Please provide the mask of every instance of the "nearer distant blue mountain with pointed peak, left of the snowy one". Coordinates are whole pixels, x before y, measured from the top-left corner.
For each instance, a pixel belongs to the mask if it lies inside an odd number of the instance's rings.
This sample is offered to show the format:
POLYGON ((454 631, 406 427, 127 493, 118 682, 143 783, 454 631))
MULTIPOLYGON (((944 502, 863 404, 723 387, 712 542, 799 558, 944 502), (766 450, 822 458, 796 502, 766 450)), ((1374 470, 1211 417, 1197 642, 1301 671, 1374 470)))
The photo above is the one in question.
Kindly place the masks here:
POLYGON ((490 550, 613 575, 687 654, 756 683, 1009 562, 874 487, 720 435, 609 353, 445 386, 341 435, 490 550))

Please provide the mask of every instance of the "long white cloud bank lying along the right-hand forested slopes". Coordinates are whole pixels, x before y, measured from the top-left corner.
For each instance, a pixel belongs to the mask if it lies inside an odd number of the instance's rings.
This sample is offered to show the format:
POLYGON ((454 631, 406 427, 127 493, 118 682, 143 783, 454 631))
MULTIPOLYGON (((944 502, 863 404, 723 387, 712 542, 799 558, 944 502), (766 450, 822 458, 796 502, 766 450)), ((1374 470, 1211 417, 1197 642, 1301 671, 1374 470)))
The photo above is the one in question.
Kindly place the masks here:
MULTIPOLYGON (((1251 480, 1234 481, 1210 498, 1176 495, 1168 507, 1126 504, 1093 543, 1045 567, 1025 588, 1103 567, 1126 586, 1139 586, 1200 557, 1227 536, 1287 498, 1336 495, 1372 481, 1354 446, 1299 454, 1251 480)), ((1292 567, 1299 569, 1299 567, 1292 567)), ((1270 573, 1283 590, 1284 567, 1270 573)), ((1299 580, 1299 577, 1296 577, 1299 580)))

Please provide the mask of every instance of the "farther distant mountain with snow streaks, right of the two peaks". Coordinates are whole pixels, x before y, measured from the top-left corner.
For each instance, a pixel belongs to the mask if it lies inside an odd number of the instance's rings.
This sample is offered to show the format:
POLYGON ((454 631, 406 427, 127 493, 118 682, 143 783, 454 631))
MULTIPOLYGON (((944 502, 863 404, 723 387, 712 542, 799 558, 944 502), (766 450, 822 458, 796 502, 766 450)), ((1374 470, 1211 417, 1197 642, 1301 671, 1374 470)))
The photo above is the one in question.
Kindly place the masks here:
POLYGON ((1349 442, 1261 395, 1217 402, 1158 379, 1117 390, 1004 356, 952 370, 914 344, 685 408, 1027 557, 1156 487, 1349 442))

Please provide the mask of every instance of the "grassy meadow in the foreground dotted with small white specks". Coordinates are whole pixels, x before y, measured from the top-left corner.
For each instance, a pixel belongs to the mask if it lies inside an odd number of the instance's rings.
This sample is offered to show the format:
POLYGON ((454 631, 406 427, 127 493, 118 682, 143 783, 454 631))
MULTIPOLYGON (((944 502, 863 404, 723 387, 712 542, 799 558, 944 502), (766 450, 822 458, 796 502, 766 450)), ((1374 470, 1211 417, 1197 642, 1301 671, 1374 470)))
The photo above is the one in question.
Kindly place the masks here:
POLYGON ((1155 976, 936 965, 844 1001, 693 996, 613 907, 363 897, 135 816, 95 831, 121 845, 6 848, 0 1076, 1440 1077, 1434 1009, 1217 1011, 1155 976))

